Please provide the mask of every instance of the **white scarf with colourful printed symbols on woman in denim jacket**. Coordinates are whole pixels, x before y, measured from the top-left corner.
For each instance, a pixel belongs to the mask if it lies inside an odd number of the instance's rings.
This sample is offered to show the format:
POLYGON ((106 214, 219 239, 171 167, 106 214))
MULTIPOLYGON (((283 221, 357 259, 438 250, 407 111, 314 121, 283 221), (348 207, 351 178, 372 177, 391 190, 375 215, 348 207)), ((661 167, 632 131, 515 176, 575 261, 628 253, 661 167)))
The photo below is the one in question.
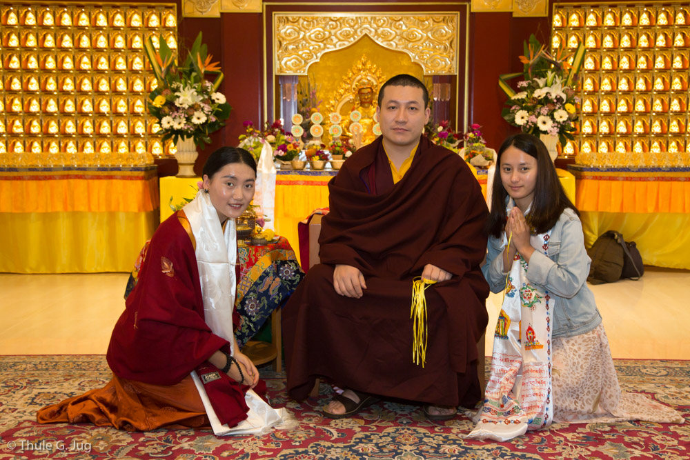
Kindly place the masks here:
MULTIPOLYGON (((511 199, 506 212, 512 208, 511 199)), ((530 244, 548 254, 550 234, 532 235, 530 244)), ((502 248, 508 243, 504 236, 502 248)), ((484 406, 473 417, 477 426, 466 439, 508 441, 551 425, 552 309, 549 292, 529 282, 527 263, 517 254, 496 323, 484 406)))

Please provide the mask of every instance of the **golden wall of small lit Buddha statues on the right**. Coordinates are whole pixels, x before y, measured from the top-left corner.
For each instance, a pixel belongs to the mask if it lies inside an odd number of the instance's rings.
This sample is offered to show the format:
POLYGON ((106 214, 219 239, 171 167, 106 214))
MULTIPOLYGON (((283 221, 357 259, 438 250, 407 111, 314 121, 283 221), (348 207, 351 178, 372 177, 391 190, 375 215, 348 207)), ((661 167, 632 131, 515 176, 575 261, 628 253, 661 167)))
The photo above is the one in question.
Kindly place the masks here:
POLYGON ((582 118, 564 146, 585 166, 690 166, 690 6, 556 5, 551 47, 584 43, 582 118))

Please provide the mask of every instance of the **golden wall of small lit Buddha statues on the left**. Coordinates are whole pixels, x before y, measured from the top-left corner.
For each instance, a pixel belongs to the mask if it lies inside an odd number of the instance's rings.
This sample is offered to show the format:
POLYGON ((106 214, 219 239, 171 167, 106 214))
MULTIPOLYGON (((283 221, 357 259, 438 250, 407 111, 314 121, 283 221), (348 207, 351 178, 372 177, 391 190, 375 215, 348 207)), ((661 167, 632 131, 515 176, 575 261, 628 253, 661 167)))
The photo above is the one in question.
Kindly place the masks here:
POLYGON ((172 5, 0 6, 0 154, 12 166, 121 166, 162 155, 146 39, 177 48, 172 5))

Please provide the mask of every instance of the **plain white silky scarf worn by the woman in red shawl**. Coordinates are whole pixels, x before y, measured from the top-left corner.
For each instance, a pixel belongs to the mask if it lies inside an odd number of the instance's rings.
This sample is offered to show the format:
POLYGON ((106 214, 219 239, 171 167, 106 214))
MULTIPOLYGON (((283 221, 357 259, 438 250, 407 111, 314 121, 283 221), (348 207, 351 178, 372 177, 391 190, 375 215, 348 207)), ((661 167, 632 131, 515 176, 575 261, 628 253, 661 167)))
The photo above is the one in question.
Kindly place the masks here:
MULTIPOLYGON (((204 299, 204 319, 210 330, 230 342, 230 351, 235 354, 233 332, 233 308, 235 308, 235 264, 237 263, 237 232, 235 219, 228 219, 224 228, 219 225, 218 212, 210 197, 199 190, 195 199, 184 207, 192 233, 197 242, 195 255, 199 268, 201 297, 204 299)), ((226 434, 266 434, 273 427, 291 428, 290 414, 285 409, 275 410, 268 406, 254 390, 248 390, 244 401, 249 407, 247 418, 233 428, 222 425, 213 410, 204 383, 193 370, 192 378, 206 415, 217 436, 226 434)))

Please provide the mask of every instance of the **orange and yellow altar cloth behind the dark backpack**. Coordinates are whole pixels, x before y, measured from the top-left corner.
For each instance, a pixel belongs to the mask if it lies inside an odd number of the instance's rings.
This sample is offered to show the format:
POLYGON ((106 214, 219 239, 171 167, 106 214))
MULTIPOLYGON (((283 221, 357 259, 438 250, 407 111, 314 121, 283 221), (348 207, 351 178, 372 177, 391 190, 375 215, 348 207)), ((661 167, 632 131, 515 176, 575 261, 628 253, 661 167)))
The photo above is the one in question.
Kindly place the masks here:
POLYGON ((690 269, 690 168, 568 169, 587 247, 617 230, 637 243, 645 264, 690 269))

